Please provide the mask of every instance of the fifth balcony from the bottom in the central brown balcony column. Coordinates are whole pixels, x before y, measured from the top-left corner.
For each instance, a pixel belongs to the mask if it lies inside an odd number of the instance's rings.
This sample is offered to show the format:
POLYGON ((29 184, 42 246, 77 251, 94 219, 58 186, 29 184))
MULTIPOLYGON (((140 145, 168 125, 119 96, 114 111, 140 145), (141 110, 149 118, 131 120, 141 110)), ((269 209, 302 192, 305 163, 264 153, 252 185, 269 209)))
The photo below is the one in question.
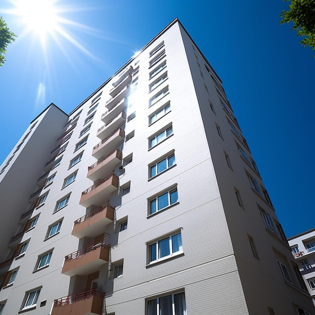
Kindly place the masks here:
POLYGON ((104 155, 96 163, 88 167, 87 177, 93 182, 104 178, 107 174, 115 170, 118 163, 122 161, 122 152, 115 149, 104 155))

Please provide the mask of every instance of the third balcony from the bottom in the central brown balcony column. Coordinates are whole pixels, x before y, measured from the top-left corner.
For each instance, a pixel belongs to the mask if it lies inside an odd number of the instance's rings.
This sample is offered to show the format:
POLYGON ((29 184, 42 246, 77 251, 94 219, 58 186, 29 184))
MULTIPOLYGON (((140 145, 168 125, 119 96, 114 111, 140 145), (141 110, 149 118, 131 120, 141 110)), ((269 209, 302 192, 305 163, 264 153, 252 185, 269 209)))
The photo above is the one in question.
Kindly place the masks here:
POLYGON ((72 235, 78 239, 95 238, 104 232, 104 227, 113 222, 114 208, 110 204, 103 205, 74 221, 72 235))

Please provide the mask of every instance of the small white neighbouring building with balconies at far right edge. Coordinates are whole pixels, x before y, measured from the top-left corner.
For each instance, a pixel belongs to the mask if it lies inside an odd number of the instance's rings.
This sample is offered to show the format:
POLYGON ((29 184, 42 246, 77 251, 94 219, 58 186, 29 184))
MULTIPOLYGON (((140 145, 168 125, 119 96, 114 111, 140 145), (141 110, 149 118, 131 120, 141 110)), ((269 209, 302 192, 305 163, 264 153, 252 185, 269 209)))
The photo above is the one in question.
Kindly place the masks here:
POLYGON ((288 242, 315 304, 315 228, 289 238, 288 242))

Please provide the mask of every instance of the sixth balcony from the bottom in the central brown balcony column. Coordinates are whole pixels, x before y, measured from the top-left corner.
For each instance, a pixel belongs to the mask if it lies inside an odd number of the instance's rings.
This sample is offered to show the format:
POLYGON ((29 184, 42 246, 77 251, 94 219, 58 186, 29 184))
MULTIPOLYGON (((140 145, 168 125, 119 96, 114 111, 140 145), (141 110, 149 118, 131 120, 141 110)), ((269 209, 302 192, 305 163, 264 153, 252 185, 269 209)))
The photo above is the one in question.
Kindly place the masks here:
POLYGON ((94 146, 92 155, 96 159, 100 159, 103 155, 115 149, 125 138, 125 131, 123 129, 116 129, 96 146, 94 146))

